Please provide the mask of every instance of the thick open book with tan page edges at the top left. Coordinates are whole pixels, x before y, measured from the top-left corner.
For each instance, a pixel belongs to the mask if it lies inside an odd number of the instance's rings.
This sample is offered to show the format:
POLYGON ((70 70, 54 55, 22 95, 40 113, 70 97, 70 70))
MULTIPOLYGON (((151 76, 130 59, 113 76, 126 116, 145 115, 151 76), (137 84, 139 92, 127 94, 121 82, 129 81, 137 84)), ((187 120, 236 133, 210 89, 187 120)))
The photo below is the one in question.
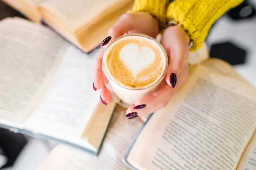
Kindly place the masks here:
POLYGON ((134 0, 2 0, 61 34, 83 51, 96 48, 134 0))

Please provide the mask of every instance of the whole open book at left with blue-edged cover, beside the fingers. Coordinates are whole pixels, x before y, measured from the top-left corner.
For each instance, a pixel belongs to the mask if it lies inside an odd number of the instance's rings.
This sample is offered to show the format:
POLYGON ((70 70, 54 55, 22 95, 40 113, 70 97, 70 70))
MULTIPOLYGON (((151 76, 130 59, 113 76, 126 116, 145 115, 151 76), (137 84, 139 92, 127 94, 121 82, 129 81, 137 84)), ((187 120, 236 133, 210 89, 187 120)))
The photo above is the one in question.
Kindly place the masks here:
POLYGON ((115 107, 92 89, 98 52, 25 19, 0 21, 0 125, 98 154, 115 107))

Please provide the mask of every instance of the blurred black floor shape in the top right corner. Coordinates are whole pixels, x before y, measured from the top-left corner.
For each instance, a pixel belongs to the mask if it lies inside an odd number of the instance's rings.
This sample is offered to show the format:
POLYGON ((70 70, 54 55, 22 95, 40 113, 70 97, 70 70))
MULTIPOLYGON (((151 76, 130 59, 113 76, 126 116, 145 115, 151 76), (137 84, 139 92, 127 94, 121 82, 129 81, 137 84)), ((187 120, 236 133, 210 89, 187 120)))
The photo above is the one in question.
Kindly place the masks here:
POLYGON ((245 0, 239 6, 230 9, 230 11, 227 12, 227 15, 232 20, 249 19, 256 16, 256 9, 250 2, 248 2, 248 0, 245 0))

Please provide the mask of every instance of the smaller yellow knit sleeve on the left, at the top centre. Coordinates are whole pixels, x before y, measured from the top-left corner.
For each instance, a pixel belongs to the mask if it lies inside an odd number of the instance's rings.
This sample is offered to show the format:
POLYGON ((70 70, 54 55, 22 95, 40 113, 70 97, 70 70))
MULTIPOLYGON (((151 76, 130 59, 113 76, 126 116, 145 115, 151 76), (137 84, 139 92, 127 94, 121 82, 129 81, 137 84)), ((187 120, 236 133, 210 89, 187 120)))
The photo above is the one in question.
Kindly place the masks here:
POLYGON ((148 12, 158 20, 159 29, 161 30, 166 24, 166 9, 168 2, 169 0, 135 0, 133 10, 128 12, 148 12))

